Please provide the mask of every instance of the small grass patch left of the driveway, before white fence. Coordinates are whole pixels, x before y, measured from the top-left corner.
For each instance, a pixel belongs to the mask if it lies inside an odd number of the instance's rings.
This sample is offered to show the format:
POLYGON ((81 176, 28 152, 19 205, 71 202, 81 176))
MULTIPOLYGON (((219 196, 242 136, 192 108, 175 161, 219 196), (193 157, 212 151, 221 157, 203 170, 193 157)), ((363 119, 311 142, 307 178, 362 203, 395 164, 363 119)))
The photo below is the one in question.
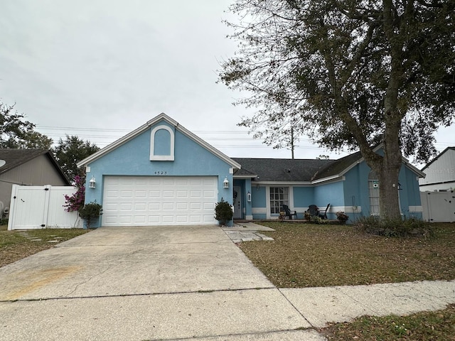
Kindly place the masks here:
POLYGON ((32 241, 16 231, 8 231, 6 226, 0 226, 0 267, 89 231, 88 229, 28 229, 26 232, 30 237, 41 239, 41 241, 32 241), (50 242, 52 240, 58 242, 52 243, 50 242))

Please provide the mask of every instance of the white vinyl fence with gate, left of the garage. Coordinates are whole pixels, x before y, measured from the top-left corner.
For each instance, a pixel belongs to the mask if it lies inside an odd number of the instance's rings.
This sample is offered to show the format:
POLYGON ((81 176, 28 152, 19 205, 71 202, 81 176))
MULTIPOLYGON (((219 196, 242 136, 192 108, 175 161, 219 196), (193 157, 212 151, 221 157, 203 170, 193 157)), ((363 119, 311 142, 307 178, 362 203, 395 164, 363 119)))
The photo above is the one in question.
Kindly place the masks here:
POLYGON ((77 212, 65 210, 65 194, 72 195, 71 186, 13 185, 8 229, 70 229, 82 227, 77 212))

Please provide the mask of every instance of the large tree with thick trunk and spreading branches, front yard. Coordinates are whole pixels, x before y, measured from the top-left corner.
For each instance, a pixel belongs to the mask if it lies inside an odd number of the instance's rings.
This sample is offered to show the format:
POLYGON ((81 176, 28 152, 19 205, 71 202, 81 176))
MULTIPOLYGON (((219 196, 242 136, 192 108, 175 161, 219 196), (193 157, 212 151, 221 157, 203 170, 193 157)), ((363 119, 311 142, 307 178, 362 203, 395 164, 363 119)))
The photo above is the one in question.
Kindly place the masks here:
POLYGON ((267 144, 294 127, 331 150, 360 149, 381 215, 399 216, 402 153, 427 161, 455 115, 455 1, 237 0, 230 11, 239 45, 220 81, 258 109, 240 124, 267 144))

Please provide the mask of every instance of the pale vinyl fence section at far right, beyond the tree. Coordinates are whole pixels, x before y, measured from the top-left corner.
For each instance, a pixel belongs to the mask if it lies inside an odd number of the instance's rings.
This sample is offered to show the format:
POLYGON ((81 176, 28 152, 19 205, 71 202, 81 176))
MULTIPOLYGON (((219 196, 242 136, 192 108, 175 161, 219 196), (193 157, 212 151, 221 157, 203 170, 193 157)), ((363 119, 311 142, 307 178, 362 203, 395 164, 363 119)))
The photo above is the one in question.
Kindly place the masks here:
POLYGON ((423 219, 427 222, 455 222, 455 193, 420 192, 423 219))

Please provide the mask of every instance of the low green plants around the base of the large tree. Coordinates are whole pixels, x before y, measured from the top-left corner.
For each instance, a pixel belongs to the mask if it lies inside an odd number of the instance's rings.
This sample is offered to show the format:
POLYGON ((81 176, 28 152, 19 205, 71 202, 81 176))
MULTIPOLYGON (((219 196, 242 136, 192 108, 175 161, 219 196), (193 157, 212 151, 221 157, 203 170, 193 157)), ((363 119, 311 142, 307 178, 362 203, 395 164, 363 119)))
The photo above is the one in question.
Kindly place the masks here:
POLYGON ((386 237, 429 237, 433 234, 429 222, 414 217, 397 219, 384 219, 378 216, 360 217, 356 223, 361 231, 386 237))

